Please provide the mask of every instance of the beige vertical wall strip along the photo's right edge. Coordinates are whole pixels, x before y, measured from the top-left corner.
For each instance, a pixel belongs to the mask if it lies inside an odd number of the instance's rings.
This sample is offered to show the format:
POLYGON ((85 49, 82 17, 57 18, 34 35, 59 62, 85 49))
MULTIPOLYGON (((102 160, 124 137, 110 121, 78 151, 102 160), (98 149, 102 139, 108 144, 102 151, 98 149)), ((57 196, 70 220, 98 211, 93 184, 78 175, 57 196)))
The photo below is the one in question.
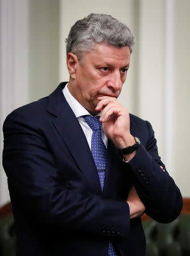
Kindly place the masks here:
POLYGON ((181 192, 190 196, 190 1, 175 1, 174 33, 174 150, 175 179, 181 192))

